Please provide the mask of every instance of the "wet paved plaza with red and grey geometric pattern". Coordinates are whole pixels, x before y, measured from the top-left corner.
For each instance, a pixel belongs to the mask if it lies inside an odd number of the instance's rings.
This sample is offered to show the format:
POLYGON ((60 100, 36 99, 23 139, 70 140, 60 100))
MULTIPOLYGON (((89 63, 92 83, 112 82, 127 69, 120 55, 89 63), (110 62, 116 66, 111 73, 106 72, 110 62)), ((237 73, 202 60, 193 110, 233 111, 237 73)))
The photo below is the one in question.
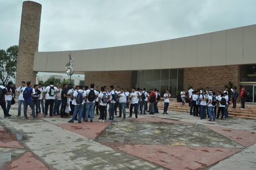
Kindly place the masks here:
MULTIPOLYGON (((128 112, 128 110, 127 110, 128 112)), ((185 112, 112 122, 0 119, 0 169, 256 169, 256 120, 185 112)))

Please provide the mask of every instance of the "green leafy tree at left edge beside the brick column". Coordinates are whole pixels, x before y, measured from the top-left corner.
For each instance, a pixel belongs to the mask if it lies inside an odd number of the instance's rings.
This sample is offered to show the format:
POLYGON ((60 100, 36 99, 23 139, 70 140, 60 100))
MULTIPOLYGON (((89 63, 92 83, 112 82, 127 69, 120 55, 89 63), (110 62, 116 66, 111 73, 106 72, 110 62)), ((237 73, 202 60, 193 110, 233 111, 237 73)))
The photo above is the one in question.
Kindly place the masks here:
POLYGON ((9 47, 6 51, 0 49, 0 79, 5 84, 14 77, 17 66, 18 46, 9 47))

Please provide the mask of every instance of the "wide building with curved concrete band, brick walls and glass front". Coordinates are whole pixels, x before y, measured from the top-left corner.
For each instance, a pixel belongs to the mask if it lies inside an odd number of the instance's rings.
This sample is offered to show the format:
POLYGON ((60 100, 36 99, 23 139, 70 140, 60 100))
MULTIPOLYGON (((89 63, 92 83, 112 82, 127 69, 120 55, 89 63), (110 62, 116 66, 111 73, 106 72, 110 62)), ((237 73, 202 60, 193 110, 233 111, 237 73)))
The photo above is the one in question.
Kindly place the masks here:
POLYGON ((224 91, 232 83, 256 102, 256 25, 122 47, 36 51, 32 71, 65 73, 68 55, 86 85, 169 89, 175 97, 189 86, 224 91))

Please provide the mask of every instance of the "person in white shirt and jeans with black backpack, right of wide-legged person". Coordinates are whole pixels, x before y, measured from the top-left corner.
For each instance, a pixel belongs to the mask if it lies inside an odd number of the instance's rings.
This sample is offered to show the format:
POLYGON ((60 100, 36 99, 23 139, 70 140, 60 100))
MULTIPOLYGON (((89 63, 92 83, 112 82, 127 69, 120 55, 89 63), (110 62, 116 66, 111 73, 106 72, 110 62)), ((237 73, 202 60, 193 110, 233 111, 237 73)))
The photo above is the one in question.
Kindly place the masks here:
POLYGON ((91 115, 90 122, 93 122, 94 114, 94 104, 95 99, 98 97, 98 91, 94 90, 94 84, 91 84, 91 89, 88 89, 86 94, 86 113, 85 113, 85 122, 88 122, 88 115, 91 115), (94 92, 94 94, 93 94, 94 92), (94 99, 93 99, 94 98, 94 99))

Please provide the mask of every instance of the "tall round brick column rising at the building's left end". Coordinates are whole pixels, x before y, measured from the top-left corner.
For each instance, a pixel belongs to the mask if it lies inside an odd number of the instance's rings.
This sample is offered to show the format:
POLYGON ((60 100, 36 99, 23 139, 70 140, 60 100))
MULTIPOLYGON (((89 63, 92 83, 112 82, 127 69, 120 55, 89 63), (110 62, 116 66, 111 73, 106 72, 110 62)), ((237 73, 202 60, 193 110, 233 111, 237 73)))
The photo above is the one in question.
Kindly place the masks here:
POLYGON ((41 20, 41 4, 24 1, 21 15, 19 35, 19 51, 17 56, 16 84, 21 81, 35 83, 36 72, 33 71, 34 53, 39 48, 39 31, 41 20))

